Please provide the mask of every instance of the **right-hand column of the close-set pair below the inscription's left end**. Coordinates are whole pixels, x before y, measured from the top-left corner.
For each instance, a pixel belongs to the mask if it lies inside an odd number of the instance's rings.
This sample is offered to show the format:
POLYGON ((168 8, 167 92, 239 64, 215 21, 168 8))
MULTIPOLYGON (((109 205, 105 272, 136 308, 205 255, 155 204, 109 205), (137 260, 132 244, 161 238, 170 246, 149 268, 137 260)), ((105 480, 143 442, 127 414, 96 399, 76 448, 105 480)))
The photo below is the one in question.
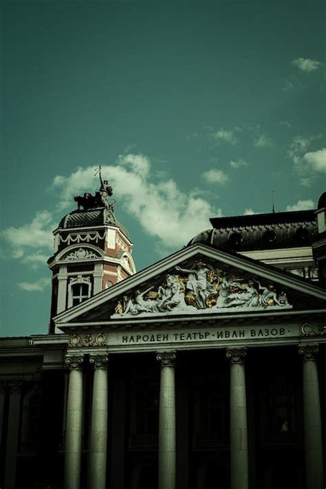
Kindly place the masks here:
POLYGON ((107 477, 107 353, 91 355, 94 365, 89 442, 89 489, 105 489, 107 477))

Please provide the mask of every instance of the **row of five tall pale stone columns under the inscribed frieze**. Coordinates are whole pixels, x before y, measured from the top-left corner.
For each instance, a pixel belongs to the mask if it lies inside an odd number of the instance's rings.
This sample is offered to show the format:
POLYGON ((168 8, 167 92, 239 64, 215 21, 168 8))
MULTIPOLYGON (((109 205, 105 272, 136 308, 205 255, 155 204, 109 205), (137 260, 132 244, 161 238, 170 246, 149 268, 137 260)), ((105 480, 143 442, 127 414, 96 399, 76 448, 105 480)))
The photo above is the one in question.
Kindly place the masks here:
MULTIPOLYGON (((246 348, 226 350, 230 360, 230 476, 231 489, 248 489, 248 426, 246 408, 246 348)), ((318 345, 301 345, 305 424, 305 472, 307 489, 324 489, 323 443, 316 355, 318 345)), ((160 351, 160 419, 158 488, 175 489, 175 351, 160 351)), ((82 435, 83 355, 67 354, 69 393, 65 445, 65 489, 80 488, 82 435)), ((106 488, 107 468, 107 363, 108 354, 90 356, 94 365, 89 446, 88 487, 106 488)))

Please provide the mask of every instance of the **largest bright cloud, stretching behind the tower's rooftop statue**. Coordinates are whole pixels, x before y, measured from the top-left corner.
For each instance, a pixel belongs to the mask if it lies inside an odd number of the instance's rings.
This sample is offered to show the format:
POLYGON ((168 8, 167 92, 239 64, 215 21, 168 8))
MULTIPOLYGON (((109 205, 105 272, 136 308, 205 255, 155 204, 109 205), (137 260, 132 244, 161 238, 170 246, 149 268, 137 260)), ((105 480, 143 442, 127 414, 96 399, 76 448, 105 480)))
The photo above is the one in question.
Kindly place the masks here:
MULTIPOLYGON (((209 227, 209 217, 221 214, 206 199, 178 188, 171 178, 153 183, 151 160, 142 154, 120 155, 116 165, 102 166, 102 175, 113 186, 113 197, 124 212, 131 215, 151 237, 170 250, 209 227)), ((71 202, 72 195, 96 186, 94 168, 78 168, 68 177, 54 178, 61 207, 71 202)))

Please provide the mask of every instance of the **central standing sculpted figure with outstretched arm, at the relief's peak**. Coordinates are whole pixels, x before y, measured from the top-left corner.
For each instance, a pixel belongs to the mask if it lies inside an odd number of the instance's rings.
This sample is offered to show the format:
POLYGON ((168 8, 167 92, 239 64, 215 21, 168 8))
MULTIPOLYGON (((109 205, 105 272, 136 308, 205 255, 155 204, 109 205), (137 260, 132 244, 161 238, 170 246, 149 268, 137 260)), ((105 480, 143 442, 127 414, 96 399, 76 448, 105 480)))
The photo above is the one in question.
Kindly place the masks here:
POLYGON ((207 274, 211 269, 202 261, 197 261, 190 270, 179 266, 176 266, 175 270, 188 273, 186 289, 195 294, 196 307, 198 309, 206 309, 206 298, 216 292, 213 283, 210 283, 207 279, 207 274))

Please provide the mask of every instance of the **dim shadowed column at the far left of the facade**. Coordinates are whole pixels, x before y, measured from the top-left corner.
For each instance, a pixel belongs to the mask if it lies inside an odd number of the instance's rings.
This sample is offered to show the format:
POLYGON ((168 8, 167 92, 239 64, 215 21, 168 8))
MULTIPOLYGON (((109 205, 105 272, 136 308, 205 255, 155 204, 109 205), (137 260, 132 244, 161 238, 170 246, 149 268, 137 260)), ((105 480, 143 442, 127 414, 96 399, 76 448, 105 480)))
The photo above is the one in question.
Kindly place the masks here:
POLYGON ((21 382, 10 382, 8 435, 6 444, 5 489, 14 489, 17 468, 21 382))

